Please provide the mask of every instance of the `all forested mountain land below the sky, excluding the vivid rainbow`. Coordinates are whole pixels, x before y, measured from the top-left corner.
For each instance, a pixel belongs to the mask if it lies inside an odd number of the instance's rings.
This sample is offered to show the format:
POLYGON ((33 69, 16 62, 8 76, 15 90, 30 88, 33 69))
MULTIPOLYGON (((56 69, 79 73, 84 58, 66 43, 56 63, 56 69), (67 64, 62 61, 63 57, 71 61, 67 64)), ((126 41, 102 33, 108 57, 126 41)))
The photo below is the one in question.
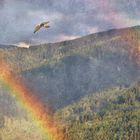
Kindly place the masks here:
MULTIPOLYGON (((65 140, 139 140, 140 84, 126 88, 140 79, 139 40, 138 26, 29 49, 3 46, 0 60, 60 109, 65 140)), ((2 83, 0 106, 0 140, 43 140, 2 83)))

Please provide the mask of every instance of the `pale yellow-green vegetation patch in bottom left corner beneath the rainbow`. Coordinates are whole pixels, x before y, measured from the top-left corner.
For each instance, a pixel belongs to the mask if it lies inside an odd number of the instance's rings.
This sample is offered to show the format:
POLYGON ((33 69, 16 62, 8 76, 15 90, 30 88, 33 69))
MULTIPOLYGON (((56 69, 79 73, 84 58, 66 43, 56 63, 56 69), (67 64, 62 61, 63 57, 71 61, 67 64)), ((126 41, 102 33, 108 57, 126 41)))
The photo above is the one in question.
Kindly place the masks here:
POLYGON ((0 140, 45 140, 43 133, 32 121, 5 117, 0 128, 0 140))

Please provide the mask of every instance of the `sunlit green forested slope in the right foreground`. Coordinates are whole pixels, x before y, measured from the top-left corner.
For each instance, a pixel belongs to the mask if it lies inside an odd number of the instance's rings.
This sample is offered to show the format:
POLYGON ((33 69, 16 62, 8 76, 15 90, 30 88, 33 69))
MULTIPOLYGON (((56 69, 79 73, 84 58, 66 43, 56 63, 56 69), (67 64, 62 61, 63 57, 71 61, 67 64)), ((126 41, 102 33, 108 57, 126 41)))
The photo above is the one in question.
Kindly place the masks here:
POLYGON ((86 96, 56 116, 64 140, 139 140, 140 83, 86 96))

